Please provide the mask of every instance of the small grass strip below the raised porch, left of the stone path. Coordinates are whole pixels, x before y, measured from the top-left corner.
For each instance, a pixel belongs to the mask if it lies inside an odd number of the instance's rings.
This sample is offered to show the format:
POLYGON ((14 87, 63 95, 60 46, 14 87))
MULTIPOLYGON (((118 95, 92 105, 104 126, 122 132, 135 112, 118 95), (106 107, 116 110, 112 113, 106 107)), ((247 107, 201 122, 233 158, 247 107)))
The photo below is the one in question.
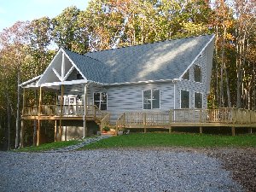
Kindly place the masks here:
POLYGON ((41 151, 47 151, 50 149, 56 149, 56 148, 65 148, 70 145, 78 144, 81 141, 79 140, 72 140, 67 142, 55 142, 55 143, 45 143, 42 145, 27 147, 27 148, 20 148, 15 151, 17 152, 41 152, 41 151))

